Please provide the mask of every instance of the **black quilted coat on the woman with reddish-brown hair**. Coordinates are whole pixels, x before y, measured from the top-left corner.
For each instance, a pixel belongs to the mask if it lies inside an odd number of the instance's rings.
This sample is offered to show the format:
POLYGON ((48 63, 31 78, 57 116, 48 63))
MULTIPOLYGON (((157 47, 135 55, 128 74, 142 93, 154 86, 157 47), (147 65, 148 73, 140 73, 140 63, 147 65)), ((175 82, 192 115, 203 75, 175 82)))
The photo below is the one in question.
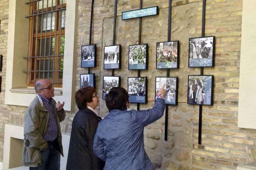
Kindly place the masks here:
POLYGON ((93 138, 96 133, 98 117, 92 110, 79 110, 72 122, 68 149, 67 170, 101 170, 105 162, 93 153, 93 138))

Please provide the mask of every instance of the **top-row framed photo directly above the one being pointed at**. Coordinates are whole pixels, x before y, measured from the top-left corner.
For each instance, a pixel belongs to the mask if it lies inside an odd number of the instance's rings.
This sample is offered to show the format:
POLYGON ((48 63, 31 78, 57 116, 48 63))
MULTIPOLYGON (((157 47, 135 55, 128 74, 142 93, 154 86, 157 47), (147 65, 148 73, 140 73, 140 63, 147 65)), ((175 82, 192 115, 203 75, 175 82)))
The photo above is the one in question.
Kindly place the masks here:
POLYGON ((179 41, 156 43, 156 69, 179 68, 179 41))

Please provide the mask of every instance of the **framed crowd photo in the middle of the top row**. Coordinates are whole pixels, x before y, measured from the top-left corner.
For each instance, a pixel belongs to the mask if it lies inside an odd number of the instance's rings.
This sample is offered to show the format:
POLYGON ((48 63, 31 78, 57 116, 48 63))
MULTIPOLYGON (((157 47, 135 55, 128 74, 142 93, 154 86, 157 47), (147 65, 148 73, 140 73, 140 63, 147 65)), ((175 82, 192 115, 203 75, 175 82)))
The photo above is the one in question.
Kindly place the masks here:
POLYGON ((148 44, 129 46, 129 70, 148 69, 148 44))

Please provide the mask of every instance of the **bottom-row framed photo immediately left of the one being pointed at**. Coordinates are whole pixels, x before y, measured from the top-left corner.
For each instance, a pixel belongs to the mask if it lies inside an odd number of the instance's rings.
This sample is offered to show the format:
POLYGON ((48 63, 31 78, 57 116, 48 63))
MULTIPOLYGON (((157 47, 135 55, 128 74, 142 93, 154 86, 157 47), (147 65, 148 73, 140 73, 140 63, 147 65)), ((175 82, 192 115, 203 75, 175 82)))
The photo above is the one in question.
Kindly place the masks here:
POLYGON ((128 77, 130 103, 147 103, 147 77, 128 77))

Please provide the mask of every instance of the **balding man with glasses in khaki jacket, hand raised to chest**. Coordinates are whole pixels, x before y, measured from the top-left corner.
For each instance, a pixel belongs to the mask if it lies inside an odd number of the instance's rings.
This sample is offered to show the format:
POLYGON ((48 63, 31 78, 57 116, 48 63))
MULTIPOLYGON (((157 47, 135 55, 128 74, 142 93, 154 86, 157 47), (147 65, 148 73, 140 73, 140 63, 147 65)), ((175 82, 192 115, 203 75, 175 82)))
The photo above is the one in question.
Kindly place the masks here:
POLYGON ((40 79, 35 83, 36 97, 25 114, 23 166, 29 169, 60 169, 63 156, 60 122, 65 119, 64 102, 54 97, 52 81, 40 79))

